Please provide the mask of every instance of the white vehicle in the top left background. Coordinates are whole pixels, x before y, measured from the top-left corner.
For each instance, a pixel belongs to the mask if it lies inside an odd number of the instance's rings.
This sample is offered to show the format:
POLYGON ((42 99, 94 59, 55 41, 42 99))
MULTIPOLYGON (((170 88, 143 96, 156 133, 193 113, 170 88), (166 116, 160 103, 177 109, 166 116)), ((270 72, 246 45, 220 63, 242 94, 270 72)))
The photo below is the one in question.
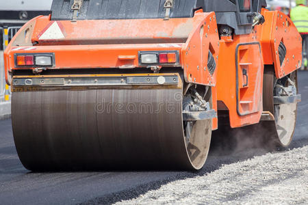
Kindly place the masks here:
POLYGON ((47 15, 52 0, 0 0, 0 26, 20 24, 39 15, 47 15))

